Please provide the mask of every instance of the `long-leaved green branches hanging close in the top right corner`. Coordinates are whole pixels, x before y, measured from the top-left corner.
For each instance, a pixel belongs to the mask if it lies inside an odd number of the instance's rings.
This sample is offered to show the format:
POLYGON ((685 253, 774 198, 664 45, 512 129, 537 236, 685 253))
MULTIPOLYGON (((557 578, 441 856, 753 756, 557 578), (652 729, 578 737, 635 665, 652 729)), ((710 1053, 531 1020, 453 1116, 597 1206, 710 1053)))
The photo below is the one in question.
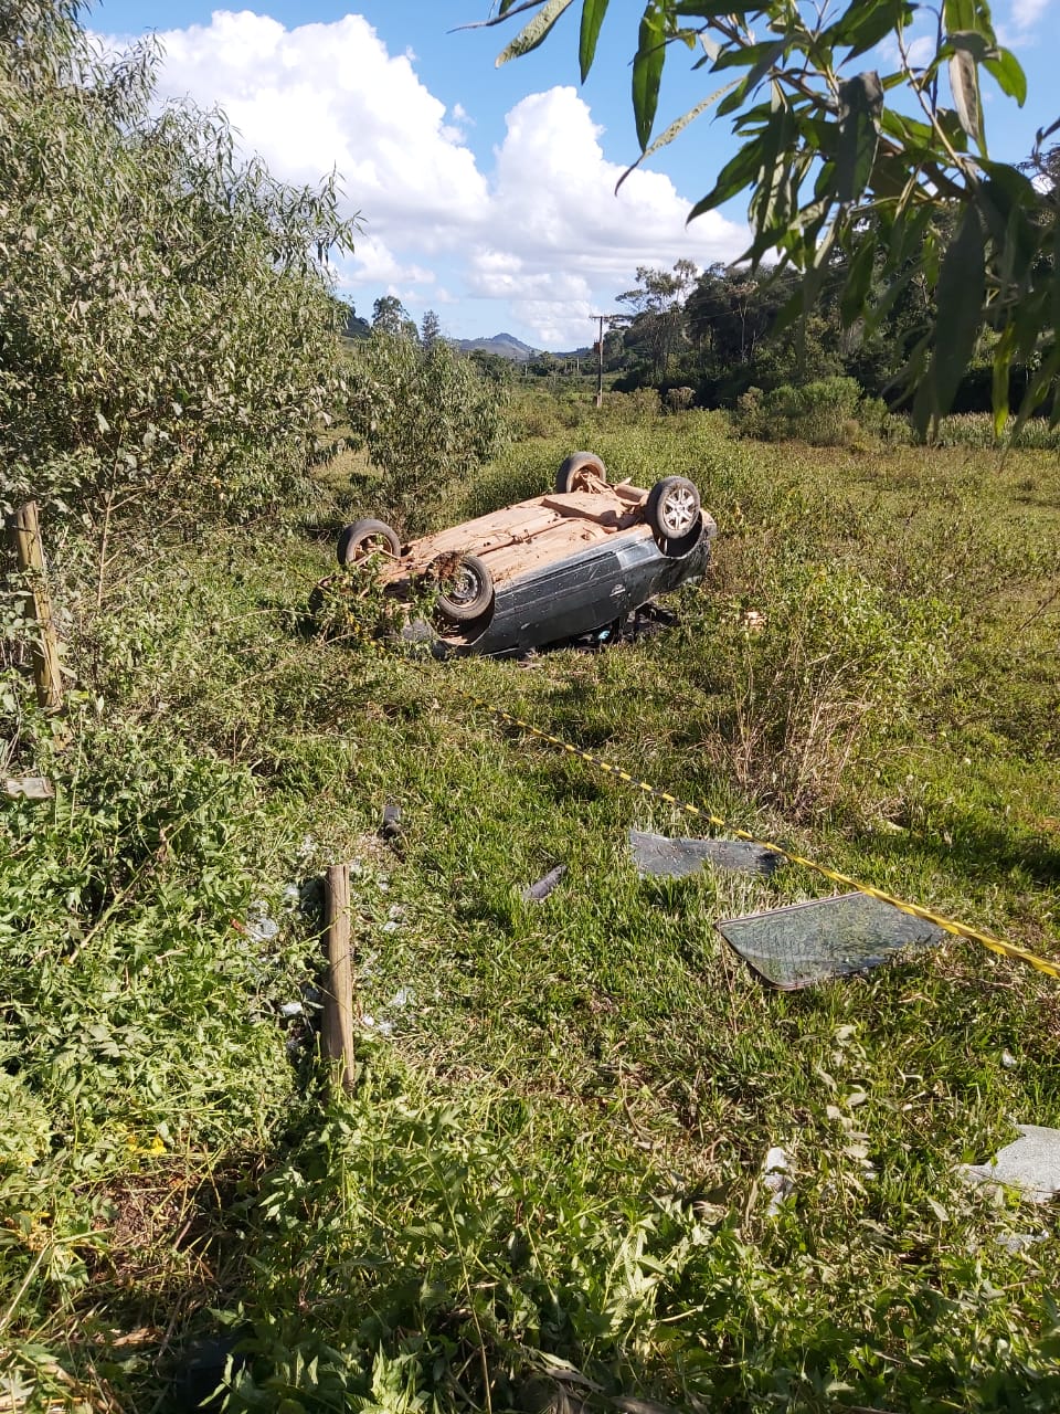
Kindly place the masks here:
MULTIPOLYGON (((537 48, 574 0, 499 0, 483 24, 519 16, 497 62, 537 48), (529 16, 529 18, 527 18, 529 16)), ((989 156, 981 85, 1027 98, 1016 57, 998 42, 987 0, 940 0, 930 52, 913 48, 912 0, 649 0, 633 37, 632 105, 640 156, 709 109, 729 117, 736 151, 690 219, 749 192, 752 266, 800 274, 787 320, 813 308, 837 252, 847 259, 841 312, 872 329, 913 280, 934 296, 900 380, 921 428, 950 407, 979 335, 992 331, 994 411, 1008 419, 1009 369, 1033 368, 1018 420, 1052 400, 1060 420, 1060 226, 1049 182, 989 156), (885 72, 859 69, 865 57, 885 72), (715 75, 714 90, 656 136, 664 65, 681 52, 715 75), (883 250, 885 281, 873 281, 883 250)), ((582 0, 585 79, 605 21, 629 10, 582 0), (611 13, 609 13, 611 10, 611 13)), ((1032 161, 1060 119, 1037 132, 1032 161)))

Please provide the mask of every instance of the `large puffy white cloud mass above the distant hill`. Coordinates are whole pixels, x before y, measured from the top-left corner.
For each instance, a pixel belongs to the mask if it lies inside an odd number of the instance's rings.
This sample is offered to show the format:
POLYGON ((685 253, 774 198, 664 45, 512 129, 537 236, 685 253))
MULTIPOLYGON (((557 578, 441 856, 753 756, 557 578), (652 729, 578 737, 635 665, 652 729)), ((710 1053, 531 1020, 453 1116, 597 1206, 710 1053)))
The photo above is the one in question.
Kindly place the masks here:
POLYGON ((612 308, 639 264, 705 266, 746 243, 717 212, 685 228, 690 204, 660 173, 633 173, 616 197, 623 168, 572 88, 517 103, 483 170, 465 137, 479 130, 473 115, 447 112, 414 57, 391 55, 362 16, 288 30, 220 10, 161 40, 164 96, 223 109, 247 153, 285 181, 338 171, 365 219, 339 267, 358 305, 386 290, 414 312, 447 303, 455 332, 516 324, 530 342, 570 346, 588 341, 589 311, 612 308))

